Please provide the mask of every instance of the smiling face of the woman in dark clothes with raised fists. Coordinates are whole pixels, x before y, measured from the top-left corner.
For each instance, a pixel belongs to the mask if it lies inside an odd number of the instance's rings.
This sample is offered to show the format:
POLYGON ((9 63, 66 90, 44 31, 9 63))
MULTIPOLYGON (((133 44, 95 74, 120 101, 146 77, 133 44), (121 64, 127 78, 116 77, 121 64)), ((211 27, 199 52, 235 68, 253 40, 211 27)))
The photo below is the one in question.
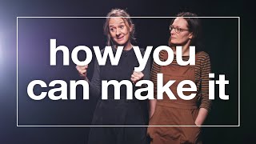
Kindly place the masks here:
POLYGON ((123 18, 110 18, 110 37, 120 46, 125 45, 130 40, 131 27, 123 18))

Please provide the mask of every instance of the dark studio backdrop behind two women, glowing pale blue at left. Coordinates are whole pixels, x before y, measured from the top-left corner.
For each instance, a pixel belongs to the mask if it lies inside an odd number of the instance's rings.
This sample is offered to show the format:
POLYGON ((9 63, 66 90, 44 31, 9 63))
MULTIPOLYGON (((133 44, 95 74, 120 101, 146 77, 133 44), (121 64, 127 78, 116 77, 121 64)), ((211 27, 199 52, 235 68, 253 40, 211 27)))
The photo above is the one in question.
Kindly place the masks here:
MULTIPOLYGON (((191 11, 199 16, 241 18, 241 126, 204 127, 205 143, 253 143, 253 7, 250 2, 149 2, 149 1, 0 1, 0 143, 86 143, 90 127, 16 127, 16 17, 18 16, 106 16, 112 8, 126 9, 131 16, 174 16, 191 11), (249 47, 250 46, 250 47, 249 47), (248 63, 247 63, 248 62, 248 63), (250 67, 249 67, 250 66, 250 67)), ((134 18, 137 44, 141 47, 166 45, 171 18, 134 18)), ((35 102, 26 94, 34 79, 47 84, 55 79, 78 80, 74 63, 50 66, 50 38, 71 50, 78 45, 105 46, 104 18, 21 18, 18 19, 18 125, 90 125, 96 98, 35 102)), ((206 125, 238 125, 238 19, 202 18, 202 42, 210 54, 215 78, 226 74, 229 101, 219 98, 206 125)), ((90 69, 90 74, 93 70, 90 69)), ((47 90, 47 89, 46 89, 47 90)), ((216 87, 218 90, 218 87, 216 87)), ((47 90, 48 91, 48 90, 47 90)), ((79 91, 79 90, 78 90, 79 91)), ((216 97, 218 91, 215 91, 216 97)))

